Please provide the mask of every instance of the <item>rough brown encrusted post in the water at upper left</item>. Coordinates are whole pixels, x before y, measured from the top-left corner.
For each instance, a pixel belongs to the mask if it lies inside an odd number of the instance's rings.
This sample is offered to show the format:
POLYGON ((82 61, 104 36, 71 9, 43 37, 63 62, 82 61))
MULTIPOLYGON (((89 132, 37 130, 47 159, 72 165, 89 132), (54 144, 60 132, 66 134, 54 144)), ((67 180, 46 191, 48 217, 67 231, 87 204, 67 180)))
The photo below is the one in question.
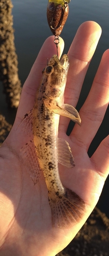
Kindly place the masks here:
POLYGON ((0 80, 4 84, 6 100, 11 108, 17 108, 21 82, 18 78, 18 61, 14 45, 11 0, 0 1, 0 80))

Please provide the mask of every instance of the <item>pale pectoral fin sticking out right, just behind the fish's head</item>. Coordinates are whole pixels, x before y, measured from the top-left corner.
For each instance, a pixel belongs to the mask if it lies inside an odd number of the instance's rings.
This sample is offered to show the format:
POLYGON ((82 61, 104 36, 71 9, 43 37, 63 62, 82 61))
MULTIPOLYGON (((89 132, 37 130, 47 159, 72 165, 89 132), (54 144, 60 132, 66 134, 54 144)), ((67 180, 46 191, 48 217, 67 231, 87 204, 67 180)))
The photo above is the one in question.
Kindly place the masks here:
POLYGON ((72 121, 80 125, 81 119, 79 113, 73 106, 69 104, 63 104, 62 106, 59 106, 58 104, 50 102, 49 99, 44 100, 44 104, 46 108, 48 108, 51 112, 61 116, 69 117, 72 121))

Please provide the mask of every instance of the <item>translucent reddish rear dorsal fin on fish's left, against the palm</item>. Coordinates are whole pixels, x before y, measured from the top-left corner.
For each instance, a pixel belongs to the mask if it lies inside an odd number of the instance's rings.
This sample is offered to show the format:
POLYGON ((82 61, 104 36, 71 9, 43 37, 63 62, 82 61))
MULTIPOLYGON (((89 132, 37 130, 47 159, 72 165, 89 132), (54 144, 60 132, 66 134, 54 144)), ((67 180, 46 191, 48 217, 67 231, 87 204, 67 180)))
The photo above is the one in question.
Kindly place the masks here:
POLYGON ((34 181, 34 184, 36 184, 40 178, 41 168, 33 140, 30 140, 23 147, 21 147, 20 156, 30 177, 34 181))

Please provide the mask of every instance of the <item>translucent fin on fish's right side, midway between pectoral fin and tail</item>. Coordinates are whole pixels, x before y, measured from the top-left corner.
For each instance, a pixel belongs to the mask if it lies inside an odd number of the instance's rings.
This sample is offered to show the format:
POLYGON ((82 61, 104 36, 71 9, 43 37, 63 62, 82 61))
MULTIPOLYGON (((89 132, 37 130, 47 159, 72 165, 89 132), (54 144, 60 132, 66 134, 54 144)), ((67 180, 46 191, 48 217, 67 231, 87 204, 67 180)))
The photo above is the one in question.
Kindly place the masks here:
POLYGON ((60 138, 58 138, 58 162, 68 168, 75 166, 69 143, 60 138))

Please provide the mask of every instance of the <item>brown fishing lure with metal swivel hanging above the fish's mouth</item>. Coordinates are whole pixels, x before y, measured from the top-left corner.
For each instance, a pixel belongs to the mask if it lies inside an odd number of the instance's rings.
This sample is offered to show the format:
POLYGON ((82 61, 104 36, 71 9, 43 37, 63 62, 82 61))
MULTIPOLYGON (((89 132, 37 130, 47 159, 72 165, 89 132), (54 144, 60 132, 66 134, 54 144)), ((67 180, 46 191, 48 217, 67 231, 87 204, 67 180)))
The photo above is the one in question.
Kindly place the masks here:
POLYGON ((68 3, 70 3, 70 0, 48 0, 47 21, 52 34, 55 35, 54 42, 57 46, 57 55, 60 42, 59 35, 63 30, 69 13, 68 3))

